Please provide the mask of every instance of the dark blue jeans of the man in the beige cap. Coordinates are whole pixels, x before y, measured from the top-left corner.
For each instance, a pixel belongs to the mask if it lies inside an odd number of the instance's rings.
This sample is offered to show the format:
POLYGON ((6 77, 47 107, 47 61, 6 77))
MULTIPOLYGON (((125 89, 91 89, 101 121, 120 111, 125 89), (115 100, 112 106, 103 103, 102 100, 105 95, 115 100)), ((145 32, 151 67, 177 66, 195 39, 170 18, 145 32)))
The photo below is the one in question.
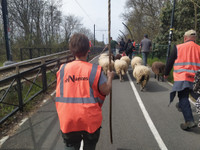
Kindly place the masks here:
POLYGON ((191 105, 189 102, 189 93, 189 88, 186 88, 183 91, 178 91, 179 107, 181 108, 185 122, 194 121, 191 105))

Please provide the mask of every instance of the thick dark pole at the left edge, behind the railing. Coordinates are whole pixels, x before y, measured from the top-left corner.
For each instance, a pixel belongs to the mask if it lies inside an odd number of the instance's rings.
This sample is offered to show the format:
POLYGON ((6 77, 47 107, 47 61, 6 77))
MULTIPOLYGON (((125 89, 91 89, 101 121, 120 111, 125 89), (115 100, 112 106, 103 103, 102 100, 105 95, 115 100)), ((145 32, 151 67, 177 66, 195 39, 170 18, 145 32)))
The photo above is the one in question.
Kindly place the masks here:
POLYGON ((2 14, 3 14, 3 24, 4 24, 4 36, 5 36, 5 44, 6 44, 6 55, 7 55, 7 61, 4 63, 4 65, 9 65, 12 62, 12 52, 10 49, 10 28, 9 28, 9 22, 8 22, 8 10, 7 10, 7 1, 1 0, 1 6, 2 6, 2 14))

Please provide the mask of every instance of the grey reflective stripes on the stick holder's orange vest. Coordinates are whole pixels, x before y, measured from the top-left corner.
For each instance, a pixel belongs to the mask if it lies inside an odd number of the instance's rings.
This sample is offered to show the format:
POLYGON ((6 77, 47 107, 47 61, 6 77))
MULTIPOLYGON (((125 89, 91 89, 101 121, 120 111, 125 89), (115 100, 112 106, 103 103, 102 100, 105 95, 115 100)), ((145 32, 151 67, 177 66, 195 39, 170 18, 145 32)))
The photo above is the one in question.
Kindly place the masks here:
POLYGON ((74 97, 63 97, 63 84, 64 84, 64 69, 66 64, 62 66, 60 69, 60 97, 56 97, 56 102, 63 102, 63 103, 100 103, 103 104, 104 99, 100 99, 99 97, 93 97, 93 89, 92 85, 95 80, 96 72, 97 72, 97 65, 92 65, 92 71, 89 77, 90 83, 90 97, 87 98, 74 98, 74 97))

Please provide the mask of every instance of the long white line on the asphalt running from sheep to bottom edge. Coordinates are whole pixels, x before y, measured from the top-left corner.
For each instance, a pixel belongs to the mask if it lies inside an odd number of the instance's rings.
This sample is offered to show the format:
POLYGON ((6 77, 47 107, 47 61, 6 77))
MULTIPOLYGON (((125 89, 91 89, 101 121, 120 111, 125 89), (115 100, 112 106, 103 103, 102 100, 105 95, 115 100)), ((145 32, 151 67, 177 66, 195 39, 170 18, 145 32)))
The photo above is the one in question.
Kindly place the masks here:
POLYGON ((135 97, 137 99, 137 102, 140 106, 140 109, 142 110, 142 113, 146 119, 146 122, 151 130, 151 132, 153 133, 154 135, 154 138, 156 139, 157 143, 158 143, 158 146, 160 147, 161 150, 168 150, 165 143, 163 142, 162 138, 160 137, 160 134, 158 133, 153 121, 151 120, 151 117, 149 116, 143 102, 142 102, 142 99, 140 98, 140 95, 135 87, 135 85, 133 84, 133 81, 131 80, 131 77, 130 75, 127 73, 127 76, 128 76, 128 79, 129 79, 129 82, 131 84, 131 87, 133 89, 133 92, 135 94, 135 97))

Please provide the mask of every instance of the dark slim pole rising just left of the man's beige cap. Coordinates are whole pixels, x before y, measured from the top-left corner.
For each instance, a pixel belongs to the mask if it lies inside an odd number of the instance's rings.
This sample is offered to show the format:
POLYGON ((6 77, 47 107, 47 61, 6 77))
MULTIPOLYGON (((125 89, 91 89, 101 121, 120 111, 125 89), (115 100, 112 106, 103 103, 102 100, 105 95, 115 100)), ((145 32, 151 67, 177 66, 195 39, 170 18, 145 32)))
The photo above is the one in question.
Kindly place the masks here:
POLYGON ((174 0, 173 8, 172 8, 171 25, 170 25, 170 30, 169 30, 169 42, 168 42, 168 49, 167 49, 167 61, 168 61, 168 58, 169 58, 169 55, 170 55, 172 34, 173 34, 173 30, 174 30, 173 27, 174 27, 174 9, 175 9, 175 4, 176 4, 176 0, 174 0))

